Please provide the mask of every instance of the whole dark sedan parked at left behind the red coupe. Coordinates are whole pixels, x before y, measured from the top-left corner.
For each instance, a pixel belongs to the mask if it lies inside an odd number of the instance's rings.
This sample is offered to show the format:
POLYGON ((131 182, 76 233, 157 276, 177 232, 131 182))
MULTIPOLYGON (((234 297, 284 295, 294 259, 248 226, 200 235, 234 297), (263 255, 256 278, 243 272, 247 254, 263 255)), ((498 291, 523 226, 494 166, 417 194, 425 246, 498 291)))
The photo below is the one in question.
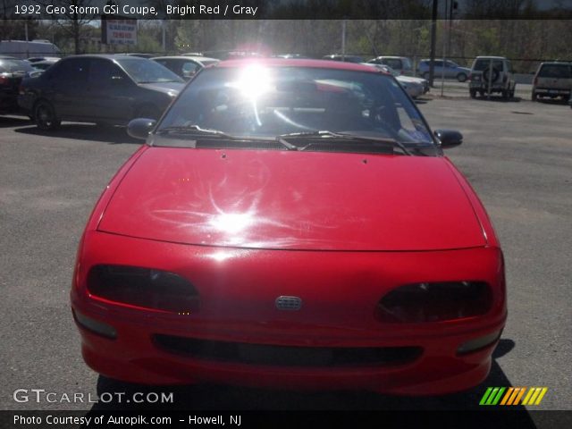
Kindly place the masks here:
POLYGON ((128 55, 75 55, 22 81, 18 103, 50 130, 62 121, 125 125, 157 119, 184 86, 161 64, 128 55))

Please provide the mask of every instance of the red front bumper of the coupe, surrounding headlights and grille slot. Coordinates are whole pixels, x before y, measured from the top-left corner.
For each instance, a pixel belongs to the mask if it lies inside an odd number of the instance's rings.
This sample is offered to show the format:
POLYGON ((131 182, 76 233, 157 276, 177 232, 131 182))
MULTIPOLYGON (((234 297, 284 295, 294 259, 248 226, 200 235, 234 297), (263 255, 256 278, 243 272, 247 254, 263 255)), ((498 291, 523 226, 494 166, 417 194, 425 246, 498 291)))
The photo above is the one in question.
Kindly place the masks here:
MULTIPOLYGON (((316 252, 183 246, 95 233, 88 240, 71 307, 113 326, 115 339, 80 326, 82 354, 100 374, 131 383, 231 383, 267 388, 359 389, 425 395, 462 391, 484 381, 498 338, 465 355, 467 341, 501 332, 506 319, 497 248, 437 252, 316 252), (138 245, 137 255, 123 251, 138 245), (174 314, 116 305, 89 296, 85 271, 97 263, 153 266, 181 273, 201 307, 174 314), (456 256, 453 258, 453 254, 456 256), (454 261, 451 264, 451 261, 454 261), (454 265, 451 268, 451 265, 454 265), (381 324, 374 307, 386 290, 420 278, 483 278, 495 284, 488 315, 456 322, 381 324), (300 311, 279 311, 279 295, 299 296, 300 311), (165 347, 161 337, 290 349, 418 349, 383 363, 292 365, 206 358, 165 347)), ((445 279, 446 280, 446 279, 445 279)), ((242 346, 240 346, 242 347, 242 346)))

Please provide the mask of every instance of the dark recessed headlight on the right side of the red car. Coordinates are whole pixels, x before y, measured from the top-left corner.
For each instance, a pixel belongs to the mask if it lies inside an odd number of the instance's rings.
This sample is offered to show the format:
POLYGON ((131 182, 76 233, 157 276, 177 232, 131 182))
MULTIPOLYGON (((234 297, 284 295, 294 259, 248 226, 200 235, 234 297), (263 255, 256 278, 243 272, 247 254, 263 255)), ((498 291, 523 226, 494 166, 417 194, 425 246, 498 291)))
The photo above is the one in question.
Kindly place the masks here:
POLYGON ((385 295, 375 317, 383 323, 441 322, 484 315, 491 307, 492 291, 485 282, 414 283, 385 295))

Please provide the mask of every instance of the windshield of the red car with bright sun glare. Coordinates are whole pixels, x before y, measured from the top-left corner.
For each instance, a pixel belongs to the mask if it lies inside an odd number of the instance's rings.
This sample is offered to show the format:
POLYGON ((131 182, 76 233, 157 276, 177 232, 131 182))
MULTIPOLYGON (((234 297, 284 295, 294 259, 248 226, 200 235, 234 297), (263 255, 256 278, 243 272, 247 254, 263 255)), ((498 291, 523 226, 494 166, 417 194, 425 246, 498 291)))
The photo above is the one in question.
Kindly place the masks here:
POLYGON ((192 127, 243 139, 327 130, 433 147, 430 131, 400 84, 366 71, 257 64, 204 69, 156 132, 192 127))

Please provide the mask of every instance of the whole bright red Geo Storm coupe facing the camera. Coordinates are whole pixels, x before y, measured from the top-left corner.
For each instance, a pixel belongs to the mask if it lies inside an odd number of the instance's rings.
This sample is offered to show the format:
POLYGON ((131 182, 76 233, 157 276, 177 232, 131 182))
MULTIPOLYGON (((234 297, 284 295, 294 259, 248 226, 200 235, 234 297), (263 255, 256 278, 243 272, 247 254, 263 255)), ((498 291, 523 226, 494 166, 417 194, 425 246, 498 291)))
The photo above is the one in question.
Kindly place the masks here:
POLYGON ((484 381, 507 317, 484 206, 391 75, 321 60, 199 71, 97 202, 71 307, 133 383, 407 395, 484 381))

